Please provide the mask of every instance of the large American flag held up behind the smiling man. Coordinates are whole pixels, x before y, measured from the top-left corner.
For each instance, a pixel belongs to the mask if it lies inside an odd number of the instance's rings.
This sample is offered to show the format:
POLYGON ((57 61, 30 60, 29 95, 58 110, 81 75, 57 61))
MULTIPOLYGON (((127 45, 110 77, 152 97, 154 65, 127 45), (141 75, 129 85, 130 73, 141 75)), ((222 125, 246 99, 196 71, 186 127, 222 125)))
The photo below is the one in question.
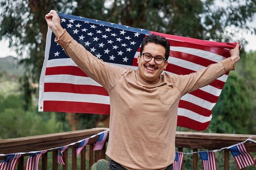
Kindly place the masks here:
MULTIPOLYGON (((58 13, 61 25, 95 57, 112 65, 137 69, 137 56, 142 39, 150 34, 166 37, 170 42, 170 57, 166 72, 189 74, 229 57, 236 43, 221 43, 168 35, 58 13)), ((54 42, 54 34, 47 32, 45 60, 40 76, 39 111, 110 114, 107 91, 90 79, 65 55, 54 42)), ((177 125, 194 130, 205 130, 212 118, 211 110, 226 82, 223 75, 209 86, 181 98, 177 125)))

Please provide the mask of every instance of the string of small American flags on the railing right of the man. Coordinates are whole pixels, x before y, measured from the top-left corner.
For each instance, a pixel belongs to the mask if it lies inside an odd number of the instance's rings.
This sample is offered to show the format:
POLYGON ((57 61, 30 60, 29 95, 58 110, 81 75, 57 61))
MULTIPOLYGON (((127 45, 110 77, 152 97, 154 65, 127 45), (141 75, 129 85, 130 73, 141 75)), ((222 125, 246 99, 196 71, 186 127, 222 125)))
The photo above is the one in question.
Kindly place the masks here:
POLYGON ((253 139, 248 138, 243 142, 234 144, 229 147, 221 148, 218 150, 200 151, 200 152, 191 152, 191 153, 175 152, 176 155, 173 162, 173 170, 181 170, 184 154, 194 154, 194 153, 198 153, 200 155, 203 163, 203 170, 217 170, 214 152, 221 151, 224 149, 228 149, 231 152, 239 169, 245 168, 252 164, 254 164, 254 166, 256 167, 256 160, 254 161, 254 159, 252 158, 252 155, 249 154, 249 152, 247 151, 244 145, 245 142, 247 141, 256 143, 256 141, 254 141, 253 139))

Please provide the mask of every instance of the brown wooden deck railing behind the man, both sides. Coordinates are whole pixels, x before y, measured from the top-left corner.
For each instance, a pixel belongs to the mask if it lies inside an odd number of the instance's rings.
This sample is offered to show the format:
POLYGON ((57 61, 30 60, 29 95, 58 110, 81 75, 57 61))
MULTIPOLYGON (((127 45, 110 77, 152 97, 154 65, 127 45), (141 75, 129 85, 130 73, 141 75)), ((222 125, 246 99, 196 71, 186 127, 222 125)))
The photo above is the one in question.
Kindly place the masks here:
MULTIPOLYGON (((21 137, 14 139, 3 139, 0 140, 0 154, 10 154, 18 152, 30 152, 47 150, 49 148, 58 148, 71 144, 73 142, 91 137, 101 131, 104 128, 93 128, 87 130, 76 130, 71 132, 62 132, 49 135, 39 135, 31 137, 21 137)), ((60 165, 57 162, 59 149, 50 150, 42 156, 40 168, 42 170, 87 170, 90 169, 92 164, 99 159, 108 159, 105 155, 106 145, 102 150, 93 151, 92 148, 99 136, 90 138, 88 145, 81 151, 79 159, 76 157, 76 148, 79 144, 71 145, 65 152, 63 152, 63 159, 65 165, 60 165), (71 155, 71 156, 70 156, 71 155), (68 159, 68 157, 71 157, 68 159), (49 163, 50 161, 51 163, 49 163), (87 160, 87 161, 85 161, 87 160), (52 167, 49 168, 49 164, 52 167), (79 166, 78 166, 79 165, 79 166)), ((183 152, 184 148, 191 148, 193 152, 198 150, 218 150, 234 144, 238 144, 247 140, 248 138, 256 140, 256 135, 237 135, 237 134, 216 134, 216 133, 203 133, 203 132, 176 132, 175 146, 177 150, 183 152)), ((107 138, 108 140, 108 138, 107 138)), ((161 142, 161 141, 159 141, 161 142)), ((248 152, 256 152, 256 144, 254 142, 246 142, 248 152)), ((229 150, 224 149, 224 170, 229 170, 229 150)), ((22 155, 18 161, 18 170, 25 169, 26 157, 29 154, 22 155)), ((5 156, 0 157, 3 160, 5 156)), ((255 159, 255 158, 254 158, 255 159)), ((192 169, 192 168, 191 168, 192 169)), ((198 154, 193 154, 193 170, 198 170, 198 154)))

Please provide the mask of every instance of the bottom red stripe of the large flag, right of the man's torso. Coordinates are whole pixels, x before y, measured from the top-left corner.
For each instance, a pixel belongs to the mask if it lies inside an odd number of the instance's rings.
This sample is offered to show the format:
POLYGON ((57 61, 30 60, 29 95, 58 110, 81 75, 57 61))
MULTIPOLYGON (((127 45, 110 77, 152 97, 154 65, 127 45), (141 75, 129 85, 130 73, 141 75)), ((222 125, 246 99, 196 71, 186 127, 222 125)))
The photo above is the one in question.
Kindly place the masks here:
POLYGON ((193 129, 193 130, 200 131, 200 130, 207 129, 209 124, 210 124, 210 121, 207 121, 205 123, 201 123, 199 121, 189 119, 188 117, 178 115, 177 126, 181 126, 181 127, 190 128, 190 129, 193 129))

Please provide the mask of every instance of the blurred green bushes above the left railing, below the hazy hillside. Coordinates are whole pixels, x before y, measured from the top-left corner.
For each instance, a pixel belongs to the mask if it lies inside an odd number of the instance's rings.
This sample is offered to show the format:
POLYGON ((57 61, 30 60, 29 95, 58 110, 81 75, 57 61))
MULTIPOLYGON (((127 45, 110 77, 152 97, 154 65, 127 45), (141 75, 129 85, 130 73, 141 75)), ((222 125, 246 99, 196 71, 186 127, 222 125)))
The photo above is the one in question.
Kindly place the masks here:
POLYGON ((19 95, 0 96, 0 139, 43 135, 63 131, 55 113, 46 119, 34 110, 22 109, 19 95))

